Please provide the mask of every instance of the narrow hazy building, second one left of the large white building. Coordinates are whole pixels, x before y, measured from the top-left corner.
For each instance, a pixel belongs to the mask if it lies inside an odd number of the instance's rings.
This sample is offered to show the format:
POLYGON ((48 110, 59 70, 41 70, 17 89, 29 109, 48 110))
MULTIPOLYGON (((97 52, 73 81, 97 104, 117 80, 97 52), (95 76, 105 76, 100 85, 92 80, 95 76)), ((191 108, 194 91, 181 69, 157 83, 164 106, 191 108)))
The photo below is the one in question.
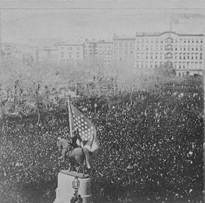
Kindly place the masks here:
POLYGON ((104 65, 110 65, 113 59, 113 43, 104 40, 96 42, 96 58, 104 65))

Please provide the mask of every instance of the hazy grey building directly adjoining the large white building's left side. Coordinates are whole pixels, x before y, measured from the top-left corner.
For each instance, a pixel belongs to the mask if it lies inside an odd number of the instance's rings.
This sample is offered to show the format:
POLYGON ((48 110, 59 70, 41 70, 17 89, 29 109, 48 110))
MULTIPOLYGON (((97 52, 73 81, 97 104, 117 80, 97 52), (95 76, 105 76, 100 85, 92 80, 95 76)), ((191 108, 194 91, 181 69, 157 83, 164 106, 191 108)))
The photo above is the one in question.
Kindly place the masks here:
POLYGON ((135 38, 113 36, 113 57, 116 63, 134 65, 135 38))

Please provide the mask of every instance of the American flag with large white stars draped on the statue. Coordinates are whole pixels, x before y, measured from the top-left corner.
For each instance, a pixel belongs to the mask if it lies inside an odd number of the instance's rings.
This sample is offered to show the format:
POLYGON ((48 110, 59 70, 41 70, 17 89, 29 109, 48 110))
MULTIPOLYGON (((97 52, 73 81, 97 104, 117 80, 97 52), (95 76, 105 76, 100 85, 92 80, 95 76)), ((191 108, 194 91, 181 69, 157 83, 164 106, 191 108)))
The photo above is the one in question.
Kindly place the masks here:
POLYGON ((71 128, 79 131, 82 141, 86 141, 90 151, 95 151, 99 147, 94 124, 81 113, 75 106, 70 104, 71 128))

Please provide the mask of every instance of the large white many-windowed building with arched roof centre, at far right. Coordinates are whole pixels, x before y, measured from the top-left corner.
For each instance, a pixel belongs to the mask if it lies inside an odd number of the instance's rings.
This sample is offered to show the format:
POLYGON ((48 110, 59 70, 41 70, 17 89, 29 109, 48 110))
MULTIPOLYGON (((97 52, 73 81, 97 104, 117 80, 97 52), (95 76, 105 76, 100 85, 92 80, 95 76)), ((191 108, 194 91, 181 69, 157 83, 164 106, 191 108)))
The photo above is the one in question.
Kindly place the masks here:
POLYGON ((203 44, 202 34, 137 33, 135 67, 157 68, 169 63, 177 76, 201 74, 204 68, 203 44))

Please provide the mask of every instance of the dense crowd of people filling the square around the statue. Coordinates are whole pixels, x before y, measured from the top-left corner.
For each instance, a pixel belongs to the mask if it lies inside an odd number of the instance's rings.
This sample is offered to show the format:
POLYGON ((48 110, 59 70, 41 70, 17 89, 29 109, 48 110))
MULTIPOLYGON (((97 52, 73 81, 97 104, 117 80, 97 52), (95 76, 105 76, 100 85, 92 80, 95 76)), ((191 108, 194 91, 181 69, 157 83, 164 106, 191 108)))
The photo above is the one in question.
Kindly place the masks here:
MULTIPOLYGON (((100 202, 202 202, 203 89, 199 81, 156 91, 73 101, 97 128, 93 196, 100 202), (96 195, 97 194, 97 195, 96 195)), ((0 202, 53 202, 56 140, 69 132, 66 108, 7 118, 0 132, 0 202)))

